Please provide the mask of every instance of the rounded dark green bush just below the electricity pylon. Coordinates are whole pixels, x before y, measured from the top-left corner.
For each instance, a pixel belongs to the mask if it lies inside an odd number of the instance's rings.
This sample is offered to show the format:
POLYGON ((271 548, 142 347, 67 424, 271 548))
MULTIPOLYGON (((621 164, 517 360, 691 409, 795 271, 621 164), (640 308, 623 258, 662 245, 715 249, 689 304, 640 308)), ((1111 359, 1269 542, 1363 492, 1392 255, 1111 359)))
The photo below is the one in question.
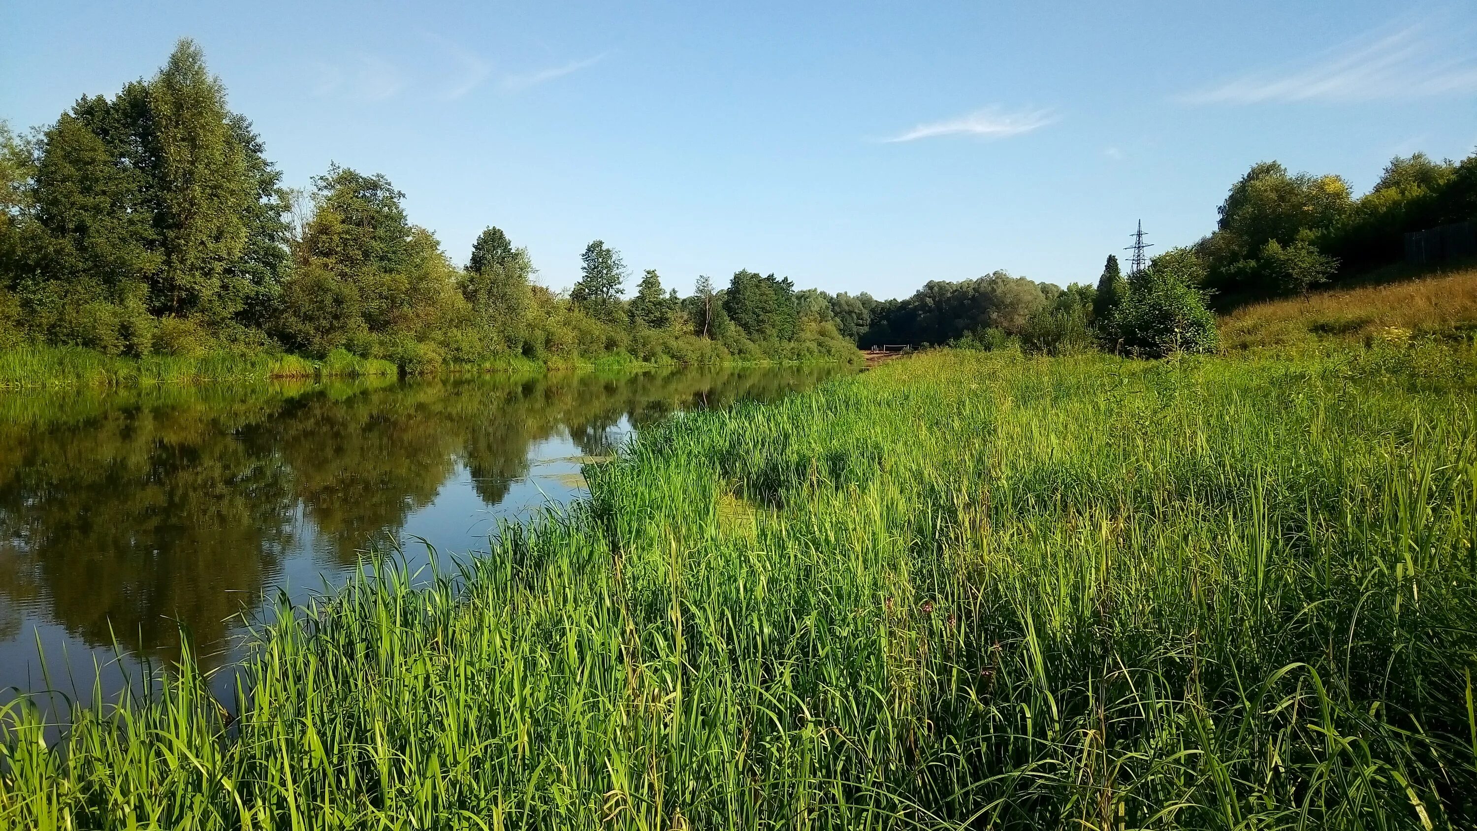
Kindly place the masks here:
POLYGON ((1216 316, 1196 288, 1199 258, 1176 248, 1128 277, 1128 292, 1102 328, 1103 345, 1140 357, 1214 351, 1220 345, 1216 316))

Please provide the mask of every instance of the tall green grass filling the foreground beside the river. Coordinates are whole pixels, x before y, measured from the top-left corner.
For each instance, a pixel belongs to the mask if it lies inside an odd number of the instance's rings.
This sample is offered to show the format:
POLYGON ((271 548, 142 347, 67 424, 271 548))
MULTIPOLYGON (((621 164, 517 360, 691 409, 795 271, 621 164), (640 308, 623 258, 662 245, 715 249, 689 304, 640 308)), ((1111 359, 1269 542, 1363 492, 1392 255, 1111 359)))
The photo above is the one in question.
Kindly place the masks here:
MULTIPOLYGON (((417 582, 3 713, 40 828, 1471 828, 1467 357, 929 353, 682 415, 417 582)), ((0 824, 3 824, 0 822, 0 824)))

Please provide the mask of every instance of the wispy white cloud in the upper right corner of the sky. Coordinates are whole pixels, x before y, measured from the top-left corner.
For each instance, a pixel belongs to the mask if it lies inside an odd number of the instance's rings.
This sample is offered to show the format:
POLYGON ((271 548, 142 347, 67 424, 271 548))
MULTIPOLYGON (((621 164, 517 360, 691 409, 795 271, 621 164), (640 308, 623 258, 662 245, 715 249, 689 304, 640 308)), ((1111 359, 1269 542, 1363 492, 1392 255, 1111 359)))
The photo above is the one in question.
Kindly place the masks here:
POLYGON ((1369 34, 1317 59, 1180 96, 1185 103, 1354 102, 1477 93, 1477 49, 1427 25, 1369 34))

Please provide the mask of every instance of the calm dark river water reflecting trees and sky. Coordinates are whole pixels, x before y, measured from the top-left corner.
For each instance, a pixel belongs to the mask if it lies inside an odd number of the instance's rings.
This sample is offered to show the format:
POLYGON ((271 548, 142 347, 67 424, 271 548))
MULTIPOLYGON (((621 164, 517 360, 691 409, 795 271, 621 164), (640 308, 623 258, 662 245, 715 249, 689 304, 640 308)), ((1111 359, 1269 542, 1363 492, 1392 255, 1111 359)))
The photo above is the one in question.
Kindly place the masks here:
POLYGON ((582 461, 641 425, 833 372, 0 393, 0 700, 86 695, 99 672, 115 689, 139 657, 179 655, 180 623, 226 664, 269 593, 303 599, 391 540, 412 567, 418 540, 486 549, 499 518, 580 494, 582 461))

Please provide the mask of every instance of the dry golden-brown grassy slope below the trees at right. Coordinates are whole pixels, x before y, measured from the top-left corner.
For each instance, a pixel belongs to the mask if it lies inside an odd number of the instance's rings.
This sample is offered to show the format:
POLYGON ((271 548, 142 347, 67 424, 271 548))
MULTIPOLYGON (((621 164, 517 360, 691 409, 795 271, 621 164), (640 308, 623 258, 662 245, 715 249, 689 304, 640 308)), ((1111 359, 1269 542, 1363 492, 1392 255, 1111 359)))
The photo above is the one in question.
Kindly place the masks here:
POLYGON ((1257 303, 1221 319, 1221 342, 1232 350, 1470 338, 1474 332, 1477 267, 1257 303))

